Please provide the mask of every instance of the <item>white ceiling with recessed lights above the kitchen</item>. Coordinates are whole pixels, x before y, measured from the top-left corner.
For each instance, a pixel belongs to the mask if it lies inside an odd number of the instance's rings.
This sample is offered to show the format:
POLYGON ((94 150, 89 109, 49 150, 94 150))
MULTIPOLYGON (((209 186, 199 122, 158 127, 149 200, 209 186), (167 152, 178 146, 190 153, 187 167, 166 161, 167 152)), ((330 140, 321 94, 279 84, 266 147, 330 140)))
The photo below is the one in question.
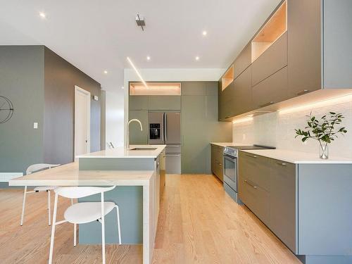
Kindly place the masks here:
POLYGON ((227 68, 278 3, 0 0, 0 45, 44 44, 103 89, 120 89, 127 56, 137 68, 227 68), (137 13, 145 17, 144 32, 134 21, 137 13))

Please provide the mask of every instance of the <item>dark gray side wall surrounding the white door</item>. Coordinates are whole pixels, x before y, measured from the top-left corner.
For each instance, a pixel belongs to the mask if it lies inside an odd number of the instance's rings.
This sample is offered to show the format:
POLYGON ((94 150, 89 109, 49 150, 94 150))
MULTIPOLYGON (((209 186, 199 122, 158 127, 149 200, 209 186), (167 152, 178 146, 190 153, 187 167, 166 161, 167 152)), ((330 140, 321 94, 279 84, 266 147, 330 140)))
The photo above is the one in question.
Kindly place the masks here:
POLYGON ((69 163, 74 156, 75 85, 91 99, 91 151, 100 150, 101 85, 72 64, 45 48, 44 162, 69 163))

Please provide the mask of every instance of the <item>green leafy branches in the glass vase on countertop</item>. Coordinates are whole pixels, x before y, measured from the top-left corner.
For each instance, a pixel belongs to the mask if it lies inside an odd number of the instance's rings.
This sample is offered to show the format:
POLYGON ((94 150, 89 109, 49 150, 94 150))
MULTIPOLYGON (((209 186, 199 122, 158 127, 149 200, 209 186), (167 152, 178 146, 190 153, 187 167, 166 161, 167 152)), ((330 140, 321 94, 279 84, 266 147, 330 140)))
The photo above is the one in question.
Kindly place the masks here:
MULTIPOLYGON (((344 115, 341 113, 329 112, 329 116, 323 115, 320 120, 310 115, 307 115, 308 120, 304 130, 298 129, 296 131, 296 137, 302 137, 302 142, 306 142, 308 139, 318 140, 320 147, 324 150, 327 144, 330 144, 334 139, 337 139, 338 134, 344 134, 347 132, 345 127, 336 129, 336 125, 340 125, 344 119, 344 115)), ((296 138, 295 137, 295 138, 296 138)))

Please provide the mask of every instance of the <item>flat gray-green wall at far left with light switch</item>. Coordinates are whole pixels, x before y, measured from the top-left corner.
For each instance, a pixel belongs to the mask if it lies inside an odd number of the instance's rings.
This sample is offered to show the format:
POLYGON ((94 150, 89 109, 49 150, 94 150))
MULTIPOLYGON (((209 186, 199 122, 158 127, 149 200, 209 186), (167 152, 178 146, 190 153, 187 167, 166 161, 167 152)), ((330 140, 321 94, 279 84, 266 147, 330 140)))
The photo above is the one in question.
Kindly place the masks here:
POLYGON ((0 46, 0 95, 15 109, 0 124, 0 172, 25 172, 43 161, 44 46, 0 46))

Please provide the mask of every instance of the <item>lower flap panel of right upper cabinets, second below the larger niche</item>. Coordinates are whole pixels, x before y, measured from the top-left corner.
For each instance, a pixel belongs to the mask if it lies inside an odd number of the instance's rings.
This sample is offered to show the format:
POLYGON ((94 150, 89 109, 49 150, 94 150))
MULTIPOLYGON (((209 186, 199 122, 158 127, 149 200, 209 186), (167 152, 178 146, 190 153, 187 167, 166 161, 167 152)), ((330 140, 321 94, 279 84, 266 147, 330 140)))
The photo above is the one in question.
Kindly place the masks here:
POLYGON ((252 87, 253 106, 262 108, 289 98, 287 67, 252 87))

